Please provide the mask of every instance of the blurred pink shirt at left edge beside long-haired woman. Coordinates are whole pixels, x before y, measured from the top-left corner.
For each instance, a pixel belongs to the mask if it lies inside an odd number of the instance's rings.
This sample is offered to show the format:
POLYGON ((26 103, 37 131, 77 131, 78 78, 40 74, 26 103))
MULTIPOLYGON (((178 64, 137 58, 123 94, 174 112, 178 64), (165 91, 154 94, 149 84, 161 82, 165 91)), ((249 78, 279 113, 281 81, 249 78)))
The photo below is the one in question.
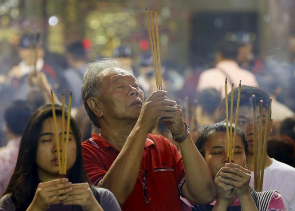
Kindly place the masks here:
POLYGON ((0 148, 0 198, 9 183, 18 159, 19 144, 21 137, 8 141, 5 147, 0 148))

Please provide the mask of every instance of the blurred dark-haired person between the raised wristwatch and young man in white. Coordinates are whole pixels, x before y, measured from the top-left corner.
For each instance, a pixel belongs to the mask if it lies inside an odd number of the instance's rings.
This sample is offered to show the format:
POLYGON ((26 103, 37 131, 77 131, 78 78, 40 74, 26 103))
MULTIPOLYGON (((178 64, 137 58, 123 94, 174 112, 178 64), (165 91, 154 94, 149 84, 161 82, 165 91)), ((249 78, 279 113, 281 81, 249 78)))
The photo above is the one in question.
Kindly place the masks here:
POLYGON ((217 122, 220 92, 214 88, 203 89, 196 94, 197 105, 195 108, 198 130, 217 122))

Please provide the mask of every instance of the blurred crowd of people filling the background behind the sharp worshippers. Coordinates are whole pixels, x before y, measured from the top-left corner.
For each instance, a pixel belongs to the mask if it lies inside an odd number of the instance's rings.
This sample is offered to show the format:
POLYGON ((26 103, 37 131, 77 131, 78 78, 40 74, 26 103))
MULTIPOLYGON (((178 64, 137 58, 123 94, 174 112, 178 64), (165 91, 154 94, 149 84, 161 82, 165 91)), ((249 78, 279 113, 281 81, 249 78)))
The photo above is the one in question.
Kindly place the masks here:
MULTIPOLYGON (((205 126, 222 120, 219 104, 225 96, 225 78, 229 92, 232 83, 234 88, 238 87, 239 80, 242 80, 242 85, 264 89, 273 99, 273 127, 268 153, 281 162, 295 166, 295 36, 290 36, 289 63, 282 63, 273 58, 260 60, 246 35, 239 34, 235 40, 220 40, 216 46, 214 63, 206 64, 212 68, 207 70, 163 61, 163 89, 168 92, 170 99, 176 100, 182 107, 184 119, 191 125, 194 140, 205 126)), ((66 49, 65 55, 50 53, 40 34, 23 34, 17 49, 2 60, 0 146, 6 146, 9 140, 21 135, 21 132, 14 132, 15 128, 20 131, 26 122, 22 117, 27 118, 31 112, 30 109, 24 109, 23 104, 28 103, 34 111, 49 103, 50 89, 58 100, 61 100, 63 90, 66 93, 73 91, 72 115, 81 128, 82 140, 91 137, 92 132, 99 132, 90 123, 81 99, 83 75, 87 64, 91 62, 89 49, 82 41, 74 42, 66 49), (11 107, 16 112, 25 112, 11 115, 11 107)), ((135 63, 131 48, 120 46, 114 49, 113 58, 132 66, 145 97, 156 90, 153 61, 148 51, 143 52, 140 61, 135 63)), ((161 123, 153 133, 161 134, 177 145, 161 123)))

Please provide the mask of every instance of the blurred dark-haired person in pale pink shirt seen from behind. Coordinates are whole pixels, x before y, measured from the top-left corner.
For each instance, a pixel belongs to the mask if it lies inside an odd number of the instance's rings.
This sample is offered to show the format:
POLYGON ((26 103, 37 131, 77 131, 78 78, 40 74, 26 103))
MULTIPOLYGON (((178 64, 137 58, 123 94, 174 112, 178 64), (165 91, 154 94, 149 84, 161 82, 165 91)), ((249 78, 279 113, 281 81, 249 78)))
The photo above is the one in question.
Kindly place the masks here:
POLYGON ((215 57, 216 66, 201 73, 197 91, 215 88, 223 97, 225 96, 225 78, 227 78, 228 90, 231 89, 232 83, 234 83, 234 87, 238 87, 240 80, 242 80, 242 85, 258 87, 254 74, 238 66, 237 56, 237 43, 226 40, 218 43, 215 57))

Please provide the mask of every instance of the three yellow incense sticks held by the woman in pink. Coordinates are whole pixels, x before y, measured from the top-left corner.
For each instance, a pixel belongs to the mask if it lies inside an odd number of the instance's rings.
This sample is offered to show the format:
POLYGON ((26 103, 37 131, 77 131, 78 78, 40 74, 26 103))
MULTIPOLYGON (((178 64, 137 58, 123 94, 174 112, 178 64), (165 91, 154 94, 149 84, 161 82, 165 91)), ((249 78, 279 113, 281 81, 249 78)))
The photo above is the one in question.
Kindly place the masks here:
POLYGON ((239 88, 238 88, 238 99, 237 99, 237 108, 236 108, 236 118, 235 118, 235 130, 234 130, 234 137, 232 138, 233 134, 233 105, 234 105, 234 84, 231 85, 231 98, 230 98, 230 132, 228 132, 228 96, 227 96, 227 78, 225 79, 225 112, 226 112, 226 150, 227 150, 227 157, 228 162, 234 162, 234 150, 236 145, 236 127, 238 122, 238 115, 239 115, 239 106, 240 106, 240 96, 241 96, 241 83, 240 80, 239 88))

